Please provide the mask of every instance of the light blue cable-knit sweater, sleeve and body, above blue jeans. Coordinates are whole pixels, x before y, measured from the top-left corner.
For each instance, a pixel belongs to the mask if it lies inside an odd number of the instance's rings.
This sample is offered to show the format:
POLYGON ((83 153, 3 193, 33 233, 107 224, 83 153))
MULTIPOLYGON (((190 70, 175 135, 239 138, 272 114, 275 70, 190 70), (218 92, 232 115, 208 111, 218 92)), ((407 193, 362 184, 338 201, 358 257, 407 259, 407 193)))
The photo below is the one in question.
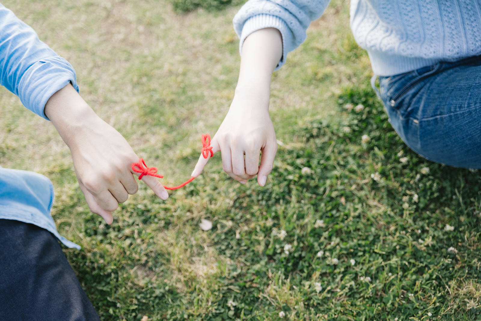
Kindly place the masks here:
MULTIPOLYGON (((234 17, 240 48, 255 30, 279 29, 279 68, 328 4, 329 0, 250 0, 234 17)), ((351 0, 350 13, 354 39, 367 50, 380 76, 481 55, 481 0, 351 0)))

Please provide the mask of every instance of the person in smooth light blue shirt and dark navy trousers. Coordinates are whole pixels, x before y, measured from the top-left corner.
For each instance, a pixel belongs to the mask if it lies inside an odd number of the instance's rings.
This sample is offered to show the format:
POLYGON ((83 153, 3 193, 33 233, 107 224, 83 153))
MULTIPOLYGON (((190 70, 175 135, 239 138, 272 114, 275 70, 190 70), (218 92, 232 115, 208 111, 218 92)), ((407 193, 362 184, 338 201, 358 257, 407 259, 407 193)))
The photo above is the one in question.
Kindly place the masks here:
MULTIPOLYGON (((90 210, 111 224, 118 203, 137 192, 139 157, 78 94, 74 68, 1 4, 0 84, 51 120, 90 210)), ((167 199, 155 177, 142 180, 167 199)), ((0 167, 0 320, 99 320, 57 241, 80 248, 57 232, 52 202, 47 177, 0 167)))

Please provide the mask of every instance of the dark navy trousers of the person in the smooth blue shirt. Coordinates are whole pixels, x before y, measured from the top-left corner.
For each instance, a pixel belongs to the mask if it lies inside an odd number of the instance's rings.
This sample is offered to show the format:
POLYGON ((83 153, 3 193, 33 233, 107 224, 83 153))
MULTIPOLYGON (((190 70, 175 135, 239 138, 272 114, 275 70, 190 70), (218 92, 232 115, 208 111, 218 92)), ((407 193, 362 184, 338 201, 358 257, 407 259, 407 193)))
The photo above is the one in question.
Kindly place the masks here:
POLYGON ((100 321, 57 238, 0 219, 0 320, 100 321))

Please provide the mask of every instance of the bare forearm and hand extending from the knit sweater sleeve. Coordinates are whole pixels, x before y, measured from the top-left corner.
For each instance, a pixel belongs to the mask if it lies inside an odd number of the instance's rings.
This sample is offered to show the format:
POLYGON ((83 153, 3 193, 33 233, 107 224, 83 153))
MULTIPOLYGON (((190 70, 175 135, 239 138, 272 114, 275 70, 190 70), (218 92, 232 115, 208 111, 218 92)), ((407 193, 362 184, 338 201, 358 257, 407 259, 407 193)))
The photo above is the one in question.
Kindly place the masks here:
MULTIPOLYGON (((272 170, 277 141, 268 110, 270 80, 281 56, 278 29, 256 30, 244 40, 236 93, 212 138, 212 151, 221 151, 224 171, 242 184, 257 174, 257 182, 264 186, 272 170)), ((208 160, 200 156, 193 177, 201 174, 208 160)))

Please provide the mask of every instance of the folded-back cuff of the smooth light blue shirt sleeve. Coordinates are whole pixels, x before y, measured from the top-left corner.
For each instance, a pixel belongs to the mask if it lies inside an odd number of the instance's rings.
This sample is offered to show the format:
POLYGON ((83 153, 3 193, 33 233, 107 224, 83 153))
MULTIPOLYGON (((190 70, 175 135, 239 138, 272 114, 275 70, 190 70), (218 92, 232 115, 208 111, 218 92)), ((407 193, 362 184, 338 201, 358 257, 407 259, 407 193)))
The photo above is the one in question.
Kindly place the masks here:
POLYGON ((75 70, 61 56, 41 59, 30 66, 18 86, 22 104, 38 116, 49 120, 44 113, 49 98, 69 83, 78 92, 75 70))

